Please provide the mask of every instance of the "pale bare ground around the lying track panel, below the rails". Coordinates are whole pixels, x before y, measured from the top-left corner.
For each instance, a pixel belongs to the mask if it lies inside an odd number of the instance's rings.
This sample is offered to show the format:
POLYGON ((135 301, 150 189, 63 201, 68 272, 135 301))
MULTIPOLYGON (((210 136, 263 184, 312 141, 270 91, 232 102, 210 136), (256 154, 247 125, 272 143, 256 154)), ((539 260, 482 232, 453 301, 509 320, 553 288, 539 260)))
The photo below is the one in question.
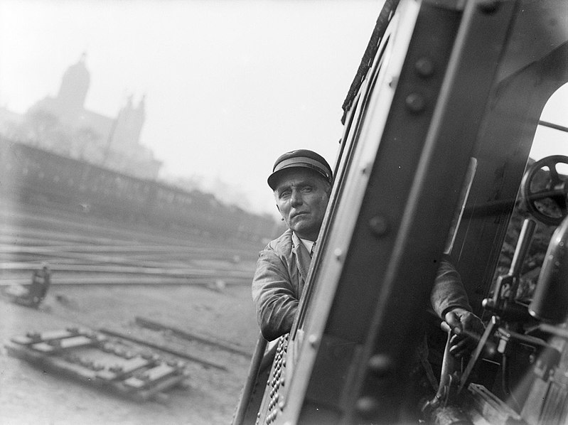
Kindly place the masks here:
MULTIPOLYGON (((257 335, 254 318, 235 314, 249 303, 242 287, 223 294, 201 287, 168 289, 65 288, 55 290, 38 310, 0 301, 0 335, 5 341, 29 330, 68 326, 111 328, 138 335, 156 331, 140 329, 136 316, 160 323, 175 323, 186 330, 204 329, 211 337, 223 335, 252 353, 257 335), (65 298, 61 298, 64 296, 65 298), (65 304, 56 297, 65 299, 65 304), (124 300, 117 310, 116 301, 124 300), (86 301, 88 300, 88 301, 86 301), (171 303, 176 300, 176 303, 171 303), (173 305, 172 305, 173 304, 173 305), (7 318, 7 320, 6 320, 7 318), (183 325, 186 326, 183 326, 183 325)), ((203 334, 203 331, 201 332, 203 334)), ((150 339, 150 338, 148 338, 150 339)), ((175 339, 171 337, 170 339, 175 339)), ((167 335, 154 340, 168 344, 167 335)), ((183 345, 178 342, 178 345, 183 345)), ((38 370, 33 365, 0 352, 0 413, 2 424, 229 424, 245 382, 249 359, 211 350, 204 344, 186 344, 195 357, 227 367, 227 371, 188 362, 187 387, 169 391, 160 402, 136 403, 105 394, 85 384, 38 370)), ((154 350, 155 351, 155 350, 154 350)))

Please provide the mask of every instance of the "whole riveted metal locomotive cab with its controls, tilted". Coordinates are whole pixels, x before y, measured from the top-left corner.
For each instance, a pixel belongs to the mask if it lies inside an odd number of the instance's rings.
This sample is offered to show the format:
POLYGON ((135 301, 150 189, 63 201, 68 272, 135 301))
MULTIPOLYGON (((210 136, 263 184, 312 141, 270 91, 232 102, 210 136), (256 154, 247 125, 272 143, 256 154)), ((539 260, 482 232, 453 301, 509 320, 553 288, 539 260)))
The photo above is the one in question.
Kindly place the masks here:
POLYGON ((568 81, 567 12, 385 2, 299 314, 260 340, 235 425, 567 423, 568 158, 533 146, 539 124, 566 130, 541 113, 568 81), (427 308, 442 259, 486 325, 451 369, 427 308), (438 388, 417 405, 424 333, 438 388))

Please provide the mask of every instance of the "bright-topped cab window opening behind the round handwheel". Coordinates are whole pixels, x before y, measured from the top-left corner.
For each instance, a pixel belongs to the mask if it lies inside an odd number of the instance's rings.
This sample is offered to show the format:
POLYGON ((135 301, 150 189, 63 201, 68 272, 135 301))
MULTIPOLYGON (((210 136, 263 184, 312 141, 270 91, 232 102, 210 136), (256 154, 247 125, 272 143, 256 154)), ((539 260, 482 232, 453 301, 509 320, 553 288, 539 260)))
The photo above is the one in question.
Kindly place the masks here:
MULTIPOLYGON (((568 127, 558 113, 567 90, 564 85, 554 92, 540 117, 495 270, 493 298, 500 292, 499 296, 526 305, 532 301, 549 242, 567 217, 568 127), (514 257, 518 264, 513 264, 514 257), (515 282, 502 285, 502 276, 511 273, 517 274, 515 282)), ((562 297, 558 301, 562 302, 562 297)))

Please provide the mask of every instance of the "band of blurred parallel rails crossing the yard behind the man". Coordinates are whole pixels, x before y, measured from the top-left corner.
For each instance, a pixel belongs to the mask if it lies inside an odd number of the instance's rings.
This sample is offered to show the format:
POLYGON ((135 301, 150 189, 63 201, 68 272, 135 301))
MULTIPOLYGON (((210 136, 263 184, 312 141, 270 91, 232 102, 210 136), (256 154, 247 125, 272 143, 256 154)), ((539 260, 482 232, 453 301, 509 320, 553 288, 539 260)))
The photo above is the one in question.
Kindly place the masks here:
POLYGON ((0 286, 29 282, 43 262, 52 285, 243 285, 259 249, 19 205, 0 218, 0 286))

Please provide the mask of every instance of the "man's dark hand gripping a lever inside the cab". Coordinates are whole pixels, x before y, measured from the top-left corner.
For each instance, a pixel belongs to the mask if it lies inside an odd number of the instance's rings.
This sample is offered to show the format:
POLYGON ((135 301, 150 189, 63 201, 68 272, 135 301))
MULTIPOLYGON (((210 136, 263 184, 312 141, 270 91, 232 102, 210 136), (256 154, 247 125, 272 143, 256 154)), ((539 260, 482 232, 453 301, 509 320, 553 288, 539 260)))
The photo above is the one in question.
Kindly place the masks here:
POLYGON ((449 311, 444 316, 444 321, 454 332, 450 340, 450 353, 456 358, 471 353, 485 330, 481 319, 465 308, 449 311))

